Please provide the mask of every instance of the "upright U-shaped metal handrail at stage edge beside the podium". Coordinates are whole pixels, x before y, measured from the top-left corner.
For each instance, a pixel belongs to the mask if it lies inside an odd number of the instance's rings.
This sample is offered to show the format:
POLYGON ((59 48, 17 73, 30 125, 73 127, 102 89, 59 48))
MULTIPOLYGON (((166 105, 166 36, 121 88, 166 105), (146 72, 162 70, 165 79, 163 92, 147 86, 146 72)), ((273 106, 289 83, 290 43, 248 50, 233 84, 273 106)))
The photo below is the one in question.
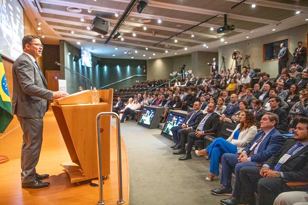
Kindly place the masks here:
POLYGON ((96 115, 96 137, 97 137, 97 160, 98 160, 98 171, 99 171, 99 201, 97 202, 98 205, 103 205, 106 202, 103 200, 103 173, 102 173, 102 152, 100 147, 100 126, 99 126, 99 118, 102 115, 110 115, 114 116, 116 119, 116 135, 117 135, 117 151, 118 151, 118 179, 119 179, 119 200, 117 204, 123 204, 123 193, 122 193, 122 159, 121 159, 121 135, 120 135, 120 117, 115 112, 100 112, 96 115))

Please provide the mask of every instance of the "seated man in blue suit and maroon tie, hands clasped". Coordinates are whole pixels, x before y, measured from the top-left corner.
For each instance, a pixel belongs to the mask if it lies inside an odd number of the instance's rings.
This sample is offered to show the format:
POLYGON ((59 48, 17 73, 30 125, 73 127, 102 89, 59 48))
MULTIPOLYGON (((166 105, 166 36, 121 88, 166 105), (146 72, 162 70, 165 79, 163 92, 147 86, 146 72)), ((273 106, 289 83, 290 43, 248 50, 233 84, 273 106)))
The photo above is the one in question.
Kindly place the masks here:
POLYGON ((268 160, 272 155, 280 150, 284 144, 284 139, 275 128, 278 124, 278 116, 273 113, 266 113, 261 120, 261 131, 254 137, 253 141, 245 147, 241 154, 225 153, 222 155, 222 187, 212 189, 215 195, 230 195, 229 199, 221 199, 222 204, 240 204, 241 200, 241 180, 240 170, 242 167, 255 167, 259 163, 268 160), (235 175, 235 184, 232 189, 232 171, 235 175))

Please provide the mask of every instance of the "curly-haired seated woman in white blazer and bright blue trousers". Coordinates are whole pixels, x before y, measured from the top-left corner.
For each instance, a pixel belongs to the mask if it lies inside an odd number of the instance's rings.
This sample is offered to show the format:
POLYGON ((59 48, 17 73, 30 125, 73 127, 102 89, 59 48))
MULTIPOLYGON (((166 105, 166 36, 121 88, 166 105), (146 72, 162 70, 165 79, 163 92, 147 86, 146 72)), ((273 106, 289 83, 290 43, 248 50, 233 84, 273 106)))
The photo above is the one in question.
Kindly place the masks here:
POLYGON ((196 155, 208 155, 210 162, 210 174, 205 180, 212 181, 219 175, 219 158, 224 153, 236 154, 241 152, 257 134, 256 119, 249 111, 243 111, 240 115, 240 124, 236 126, 231 136, 225 140, 218 136, 206 149, 195 151, 196 155))

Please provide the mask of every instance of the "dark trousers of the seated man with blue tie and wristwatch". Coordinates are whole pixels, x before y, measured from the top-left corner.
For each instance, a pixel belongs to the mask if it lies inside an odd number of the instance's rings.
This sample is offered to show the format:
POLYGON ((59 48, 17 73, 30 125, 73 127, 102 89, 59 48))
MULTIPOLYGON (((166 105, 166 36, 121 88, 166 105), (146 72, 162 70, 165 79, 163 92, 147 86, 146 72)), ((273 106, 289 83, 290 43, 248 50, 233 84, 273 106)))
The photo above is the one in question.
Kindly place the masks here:
POLYGON ((282 178, 260 176, 261 167, 243 167, 240 170, 241 203, 256 204, 254 192, 259 195, 259 204, 272 205, 276 197, 290 191, 282 178))

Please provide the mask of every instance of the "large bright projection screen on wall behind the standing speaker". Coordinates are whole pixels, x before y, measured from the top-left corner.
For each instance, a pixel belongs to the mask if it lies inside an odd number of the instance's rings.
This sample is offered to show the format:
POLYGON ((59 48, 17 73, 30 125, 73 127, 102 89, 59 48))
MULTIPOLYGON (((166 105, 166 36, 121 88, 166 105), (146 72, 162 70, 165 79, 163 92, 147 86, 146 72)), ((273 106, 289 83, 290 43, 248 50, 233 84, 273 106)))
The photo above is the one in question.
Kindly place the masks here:
POLYGON ((0 53, 13 61, 22 54, 23 9, 18 0, 0 0, 0 53))

